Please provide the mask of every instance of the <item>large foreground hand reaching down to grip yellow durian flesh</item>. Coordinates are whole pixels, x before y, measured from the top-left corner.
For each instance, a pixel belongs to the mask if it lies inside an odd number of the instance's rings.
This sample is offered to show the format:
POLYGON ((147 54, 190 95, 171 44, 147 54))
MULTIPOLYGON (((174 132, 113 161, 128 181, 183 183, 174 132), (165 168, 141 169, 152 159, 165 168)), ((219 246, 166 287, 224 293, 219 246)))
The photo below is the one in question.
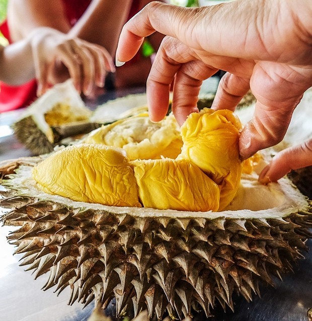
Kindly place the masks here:
MULTIPOLYGON (((202 80, 217 70, 227 73, 213 109, 235 110, 251 89, 257 102, 252 121, 241 133, 240 154, 245 159, 283 139, 293 110, 312 85, 311 16, 310 0, 300 6, 289 0, 237 0, 202 8, 155 2, 124 26, 116 57, 121 62, 130 60, 144 37, 155 30, 168 35, 147 80, 152 121, 166 115, 174 79, 172 109, 180 125, 197 110, 202 80)), ((297 153, 292 164, 288 155, 285 151, 272 162, 270 179, 298 164, 297 153)), ((306 155, 302 154, 303 166, 312 164, 306 155)))

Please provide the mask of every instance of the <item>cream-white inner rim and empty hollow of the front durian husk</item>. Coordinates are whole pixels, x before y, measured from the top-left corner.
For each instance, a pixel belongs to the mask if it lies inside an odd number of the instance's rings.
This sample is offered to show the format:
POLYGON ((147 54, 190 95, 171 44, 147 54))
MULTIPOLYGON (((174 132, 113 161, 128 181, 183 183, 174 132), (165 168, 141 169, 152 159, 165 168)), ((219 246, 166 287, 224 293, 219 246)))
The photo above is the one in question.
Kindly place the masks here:
POLYGON ((68 198, 50 195, 36 186, 32 178, 32 166, 22 165, 17 174, 10 175, 10 180, 3 180, 3 186, 17 190, 19 195, 35 197, 40 200, 50 200, 67 206, 83 209, 106 210, 116 215, 129 213, 135 217, 172 217, 172 218, 204 218, 215 219, 270 219, 287 217, 290 213, 308 209, 307 198, 302 195, 288 178, 282 178, 278 183, 267 186, 257 181, 258 175, 244 174, 241 187, 236 197, 222 212, 191 212, 172 209, 159 210, 154 208, 116 207, 101 204, 72 201, 68 198), (18 187, 17 187, 18 186, 18 187))

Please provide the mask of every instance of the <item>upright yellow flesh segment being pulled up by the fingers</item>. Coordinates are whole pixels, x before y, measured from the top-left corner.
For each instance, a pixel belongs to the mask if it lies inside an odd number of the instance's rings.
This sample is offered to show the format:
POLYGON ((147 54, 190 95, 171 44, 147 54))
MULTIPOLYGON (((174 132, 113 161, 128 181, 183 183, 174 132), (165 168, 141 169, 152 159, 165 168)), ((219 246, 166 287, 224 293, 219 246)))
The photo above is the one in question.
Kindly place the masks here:
POLYGON ((235 196, 240 184, 240 120, 228 110, 204 109, 192 113, 181 127, 183 147, 178 158, 196 164, 220 186, 222 210, 235 196))

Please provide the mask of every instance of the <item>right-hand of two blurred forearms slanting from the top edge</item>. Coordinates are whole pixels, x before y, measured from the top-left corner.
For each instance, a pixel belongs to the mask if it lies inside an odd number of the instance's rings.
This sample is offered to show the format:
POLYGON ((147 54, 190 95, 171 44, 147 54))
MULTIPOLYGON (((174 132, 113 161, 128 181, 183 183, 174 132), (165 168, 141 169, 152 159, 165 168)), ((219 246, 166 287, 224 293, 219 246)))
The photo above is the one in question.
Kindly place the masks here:
POLYGON ((114 56, 131 3, 132 0, 95 0, 69 33, 102 45, 114 56))

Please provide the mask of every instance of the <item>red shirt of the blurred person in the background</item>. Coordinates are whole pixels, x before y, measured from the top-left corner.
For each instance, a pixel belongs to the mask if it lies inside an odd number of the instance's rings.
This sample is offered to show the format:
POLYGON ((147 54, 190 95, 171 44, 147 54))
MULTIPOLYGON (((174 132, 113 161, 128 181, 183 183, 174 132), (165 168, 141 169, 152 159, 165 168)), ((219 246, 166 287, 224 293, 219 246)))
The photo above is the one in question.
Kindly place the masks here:
MULTIPOLYGON (((62 0, 65 16, 72 27, 87 10, 92 0, 62 0)), ((138 11, 138 1, 133 1, 129 17, 134 16, 138 11)), ((0 31, 12 43, 7 20, 0 25, 0 31)), ((10 86, 0 81, 0 113, 16 110, 30 105, 36 98, 36 79, 20 86, 10 86)))

